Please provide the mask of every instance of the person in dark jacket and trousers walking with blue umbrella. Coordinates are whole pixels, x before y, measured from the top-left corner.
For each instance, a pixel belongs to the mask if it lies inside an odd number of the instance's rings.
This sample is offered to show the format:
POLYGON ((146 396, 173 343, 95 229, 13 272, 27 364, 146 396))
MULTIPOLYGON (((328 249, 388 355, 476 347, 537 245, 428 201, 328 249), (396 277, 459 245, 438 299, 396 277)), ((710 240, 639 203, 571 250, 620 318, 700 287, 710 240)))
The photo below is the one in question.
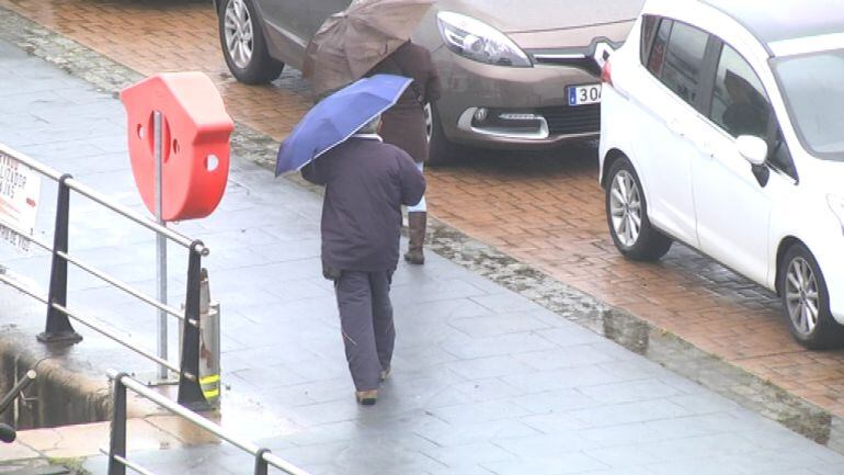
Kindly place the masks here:
POLYGON ((425 179, 412 158, 378 136, 380 114, 410 84, 380 75, 318 103, 278 150, 276 174, 301 170, 326 186, 322 269, 334 282, 346 361, 362 405, 389 375, 396 329, 390 284, 399 260, 401 206, 418 203, 425 179))

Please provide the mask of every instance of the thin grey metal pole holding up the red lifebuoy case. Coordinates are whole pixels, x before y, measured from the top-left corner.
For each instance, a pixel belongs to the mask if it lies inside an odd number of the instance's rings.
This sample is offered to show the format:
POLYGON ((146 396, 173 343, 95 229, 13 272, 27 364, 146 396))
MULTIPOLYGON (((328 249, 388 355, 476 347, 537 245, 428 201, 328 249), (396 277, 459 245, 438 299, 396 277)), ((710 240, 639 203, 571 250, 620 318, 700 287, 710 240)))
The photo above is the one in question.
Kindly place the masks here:
MULTIPOLYGON (((161 113, 155 112, 155 151, 156 151, 156 220, 161 226, 167 227, 167 223, 163 220, 163 168, 164 168, 164 144, 163 131, 161 126, 161 113)), ((159 302, 167 305, 167 238, 161 234, 156 234, 156 261, 158 267, 156 268, 156 281, 158 282, 156 296, 159 302)), ((167 313, 162 309, 158 309, 158 357, 162 360, 167 360, 167 313)), ((168 377, 167 367, 158 366, 158 378, 164 381, 168 377)))

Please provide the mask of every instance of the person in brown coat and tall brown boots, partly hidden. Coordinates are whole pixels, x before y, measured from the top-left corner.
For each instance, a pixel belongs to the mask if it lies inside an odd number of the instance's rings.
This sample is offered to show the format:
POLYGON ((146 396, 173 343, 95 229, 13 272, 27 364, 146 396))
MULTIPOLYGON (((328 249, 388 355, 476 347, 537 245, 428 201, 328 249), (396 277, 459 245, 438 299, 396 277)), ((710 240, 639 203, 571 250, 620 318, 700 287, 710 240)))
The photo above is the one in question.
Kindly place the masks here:
MULTIPOLYGON (((436 102, 442 92, 440 75, 431 60, 431 53, 425 47, 408 41, 376 65, 368 75, 377 73, 392 73, 413 79, 396 105, 384 113, 380 135, 385 143, 407 151, 422 171, 429 154, 425 106, 436 102)), ((404 253, 406 261, 413 264, 425 263, 426 226, 427 203, 422 196, 418 204, 408 206, 410 245, 404 253)))

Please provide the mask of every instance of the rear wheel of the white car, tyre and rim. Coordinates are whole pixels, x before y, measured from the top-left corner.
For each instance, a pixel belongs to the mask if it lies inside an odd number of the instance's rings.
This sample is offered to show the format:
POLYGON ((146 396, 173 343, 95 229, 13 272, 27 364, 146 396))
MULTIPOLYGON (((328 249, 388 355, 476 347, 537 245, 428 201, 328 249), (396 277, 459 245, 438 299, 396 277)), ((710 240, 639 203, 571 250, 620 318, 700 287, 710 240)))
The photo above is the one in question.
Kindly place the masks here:
POLYGON ((635 261, 655 261, 671 249, 671 239, 648 219, 639 177, 626 158, 609 169, 606 188, 606 220, 618 250, 635 261))

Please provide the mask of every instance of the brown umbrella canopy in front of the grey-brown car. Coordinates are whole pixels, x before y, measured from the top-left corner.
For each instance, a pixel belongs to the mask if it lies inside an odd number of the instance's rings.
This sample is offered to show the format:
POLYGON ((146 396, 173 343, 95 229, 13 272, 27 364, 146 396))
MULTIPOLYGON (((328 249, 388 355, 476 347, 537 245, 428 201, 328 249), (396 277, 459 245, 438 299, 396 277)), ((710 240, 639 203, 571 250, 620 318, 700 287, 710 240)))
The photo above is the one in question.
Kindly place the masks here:
POLYGON ((308 44, 303 75, 319 94, 363 77, 417 30, 434 0, 355 0, 308 44))

